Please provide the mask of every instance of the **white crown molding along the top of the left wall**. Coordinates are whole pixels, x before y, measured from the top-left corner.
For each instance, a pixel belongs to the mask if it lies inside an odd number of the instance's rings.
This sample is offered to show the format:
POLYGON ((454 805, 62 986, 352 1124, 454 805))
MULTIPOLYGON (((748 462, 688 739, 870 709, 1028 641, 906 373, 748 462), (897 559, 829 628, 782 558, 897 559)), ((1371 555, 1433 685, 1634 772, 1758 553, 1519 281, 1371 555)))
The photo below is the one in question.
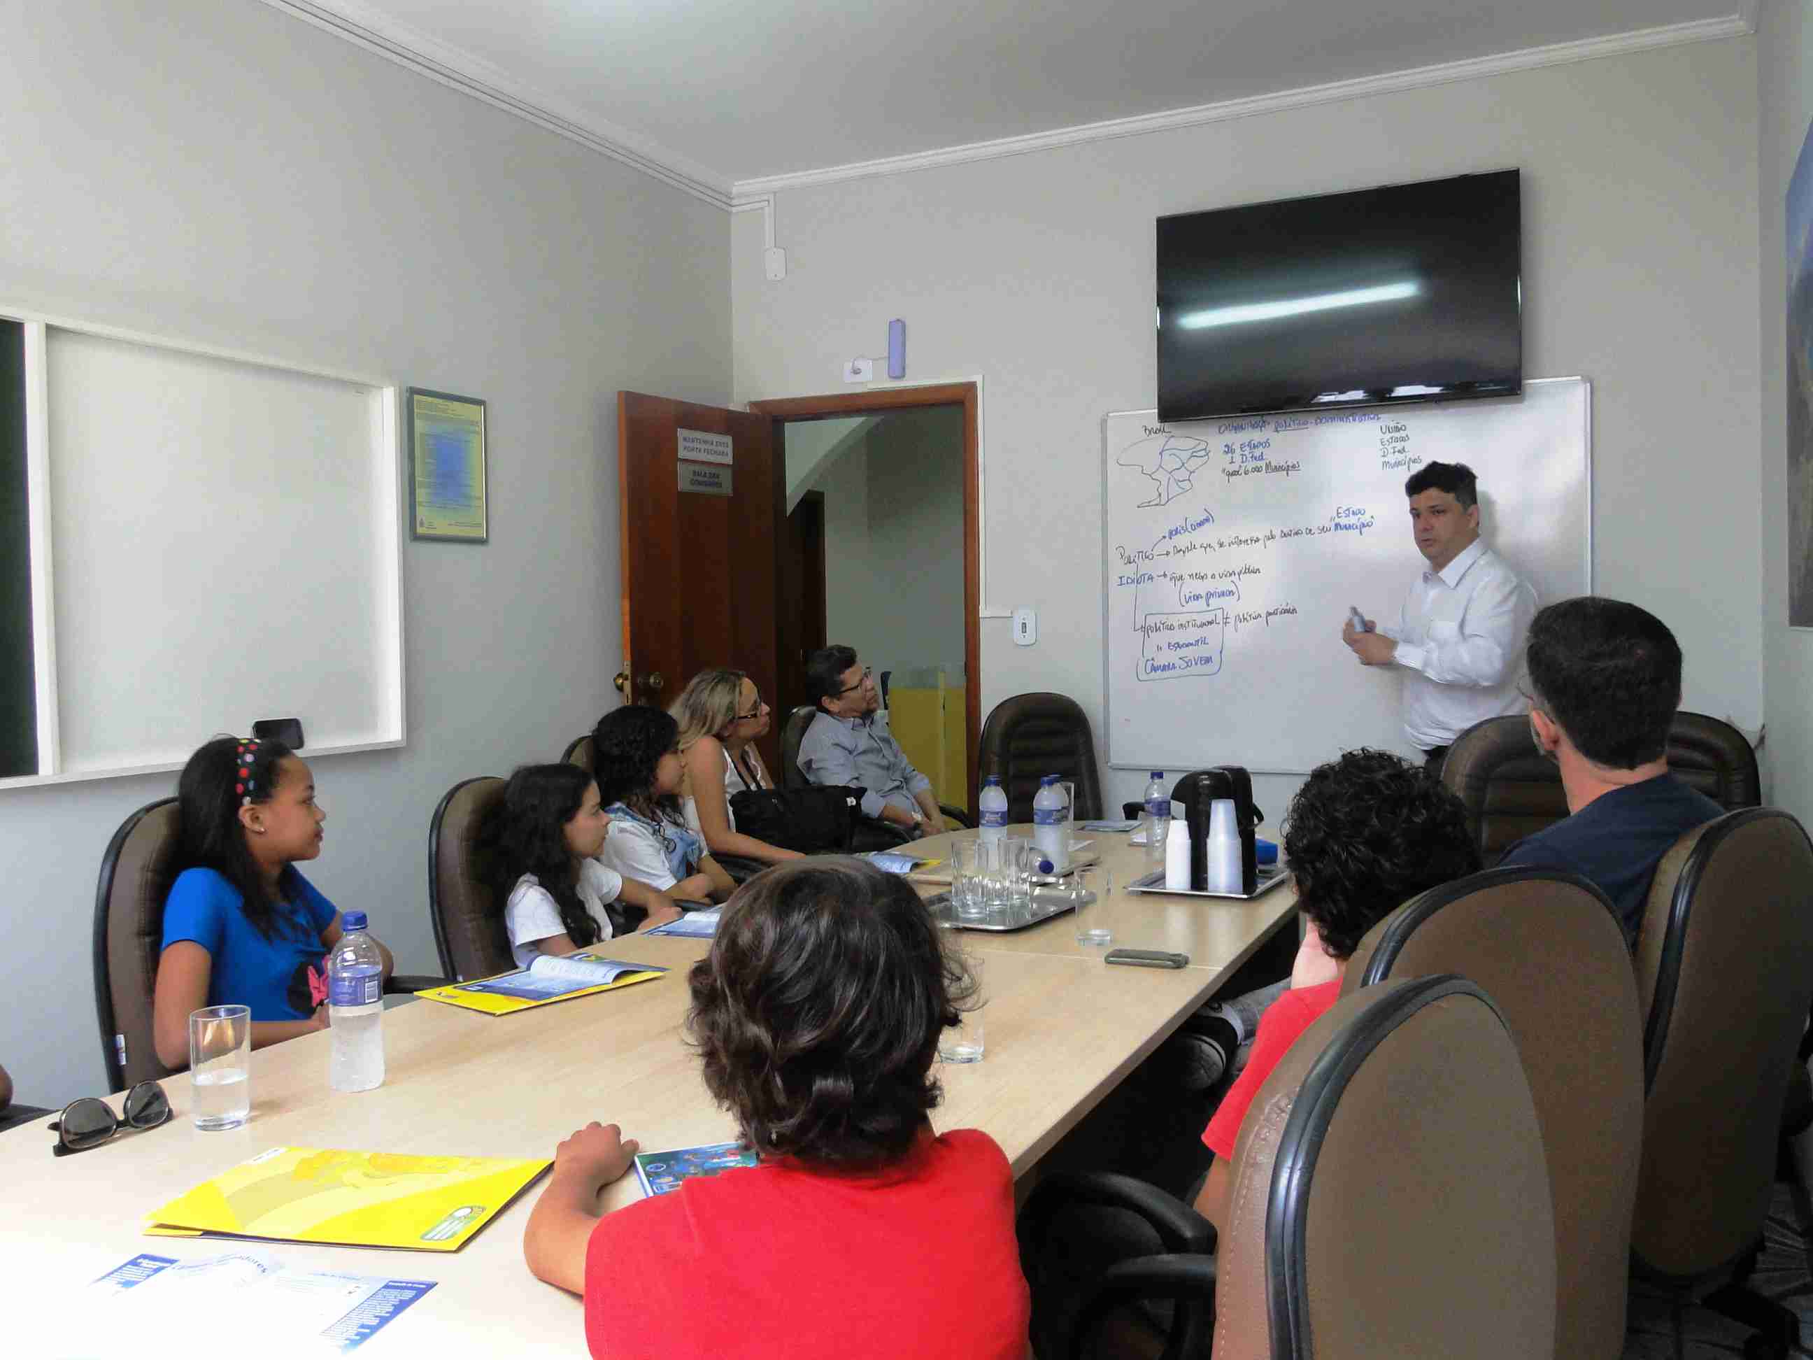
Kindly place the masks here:
POLYGON ((551 100, 504 74, 484 58, 430 38, 426 33, 377 13, 361 0, 261 0, 261 4, 377 53, 419 76, 471 94, 504 112, 651 174, 665 185, 693 194, 693 198, 720 209, 731 207, 731 183, 723 176, 629 129, 607 123, 593 112, 551 100))

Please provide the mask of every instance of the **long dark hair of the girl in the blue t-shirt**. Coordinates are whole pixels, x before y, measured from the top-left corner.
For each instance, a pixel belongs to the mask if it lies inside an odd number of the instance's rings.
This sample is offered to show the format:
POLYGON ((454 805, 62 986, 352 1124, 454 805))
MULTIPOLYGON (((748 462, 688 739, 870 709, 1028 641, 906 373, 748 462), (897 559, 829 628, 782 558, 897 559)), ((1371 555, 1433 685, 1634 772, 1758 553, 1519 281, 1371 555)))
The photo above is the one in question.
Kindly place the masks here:
POLYGON ((239 821, 247 803, 270 801, 283 778, 281 765, 294 754, 270 738, 254 743, 243 736, 216 736, 196 747, 176 780, 176 854, 161 885, 163 896, 185 869, 212 869, 239 890, 239 908, 259 936, 314 939, 305 916, 290 905, 301 887, 296 865, 283 867, 272 896, 239 821), (248 751, 241 754, 241 747, 248 751))

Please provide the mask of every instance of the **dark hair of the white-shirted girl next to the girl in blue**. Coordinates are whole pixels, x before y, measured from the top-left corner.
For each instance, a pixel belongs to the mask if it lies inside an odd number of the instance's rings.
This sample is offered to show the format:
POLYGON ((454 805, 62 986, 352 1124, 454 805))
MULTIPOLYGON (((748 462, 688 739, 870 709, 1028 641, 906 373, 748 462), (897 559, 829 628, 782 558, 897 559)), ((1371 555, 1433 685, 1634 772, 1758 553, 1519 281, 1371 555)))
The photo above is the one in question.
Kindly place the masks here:
POLYGON ((578 863, 566 823, 586 803, 591 774, 578 765, 520 765, 479 829, 479 858, 497 892, 497 910, 524 874, 535 874, 560 910, 567 937, 584 948, 604 934, 578 899, 578 863))

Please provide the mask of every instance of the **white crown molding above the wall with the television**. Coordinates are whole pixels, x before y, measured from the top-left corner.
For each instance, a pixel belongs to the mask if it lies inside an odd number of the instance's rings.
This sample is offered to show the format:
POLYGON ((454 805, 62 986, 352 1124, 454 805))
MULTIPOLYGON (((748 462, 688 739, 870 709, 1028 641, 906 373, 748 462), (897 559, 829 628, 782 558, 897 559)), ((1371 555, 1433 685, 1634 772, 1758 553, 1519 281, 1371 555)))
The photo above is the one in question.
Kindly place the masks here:
POLYGON ((881 174, 906 174, 910 170, 932 170, 943 165, 999 160, 1001 156, 1024 156, 1033 151, 1077 147, 1090 141, 1111 141, 1113 138, 1166 132, 1177 127, 1200 127, 1202 123, 1220 123, 1231 118, 1251 118, 1255 114, 1280 112, 1284 109, 1334 103, 1336 100, 1358 100, 1369 94, 1389 94, 1394 91, 1423 89, 1427 85, 1447 85, 1458 80, 1478 80, 1481 76, 1498 76, 1512 71, 1534 71, 1545 65, 1592 62, 1601 56, 1624 56, 1628 53, 1644 53, 1655 47, 1679 47, 1690 42, 1739 38, 1748 33, 1755 33, 1757 4, 1759 0, 1740 0, 1742 13, 1730 15, 1726 18, 1670 24, 1655 29, 1637 29, 1635 33, 1619 33, 1608 38, 1585 38, 1581 42, 1552 44, 1548 47, 1525 47, 1521 51, 1501 53, 1498 56, 1443 62, 1441 65, 1392 71, 1382 76, 1362 76, 1358 80, 1336 80, 1327 85, 1307 85, 1304 89, 1280 91, 1276 94, 1255 94, 1244 100, 1226 100, 1222 103, 1198 103, 1191 109, 1171 109, 1169 112, 1142 114, 1137 118, 1111 118, 1102 123, 1061 127, 1052 132, 1030 132, 1026 136, 999 138, 995 141, 972 141, 963 147, 945 147, 943 151, 925 151, 908 156, 887 156, 874 161, 832 165, 823 170, 800 170, 794 174, 771 174, 760 180, 738 180, 732 185, 732 198, 736 201, 745 201, 756 196, 776 194, 783 189, 810 189, 847 180, 868 180, 881 174))

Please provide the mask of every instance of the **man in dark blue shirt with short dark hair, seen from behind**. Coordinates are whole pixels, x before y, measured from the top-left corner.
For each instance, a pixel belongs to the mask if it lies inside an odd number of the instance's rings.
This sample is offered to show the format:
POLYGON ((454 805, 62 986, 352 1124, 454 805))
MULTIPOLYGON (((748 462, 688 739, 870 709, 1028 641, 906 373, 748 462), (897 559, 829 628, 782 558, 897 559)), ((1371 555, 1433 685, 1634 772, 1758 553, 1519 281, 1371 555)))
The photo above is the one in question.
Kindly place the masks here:
POLYGON ((1572 816, 1517 841, 1501 863, 1597 883, 1635 948, 1655 865, 1724 812, 1668 772, 1681 646, 1648 609, 1585 595, 1536 615, 1527 656, 1530 736, 1561 767, 1572 816))

